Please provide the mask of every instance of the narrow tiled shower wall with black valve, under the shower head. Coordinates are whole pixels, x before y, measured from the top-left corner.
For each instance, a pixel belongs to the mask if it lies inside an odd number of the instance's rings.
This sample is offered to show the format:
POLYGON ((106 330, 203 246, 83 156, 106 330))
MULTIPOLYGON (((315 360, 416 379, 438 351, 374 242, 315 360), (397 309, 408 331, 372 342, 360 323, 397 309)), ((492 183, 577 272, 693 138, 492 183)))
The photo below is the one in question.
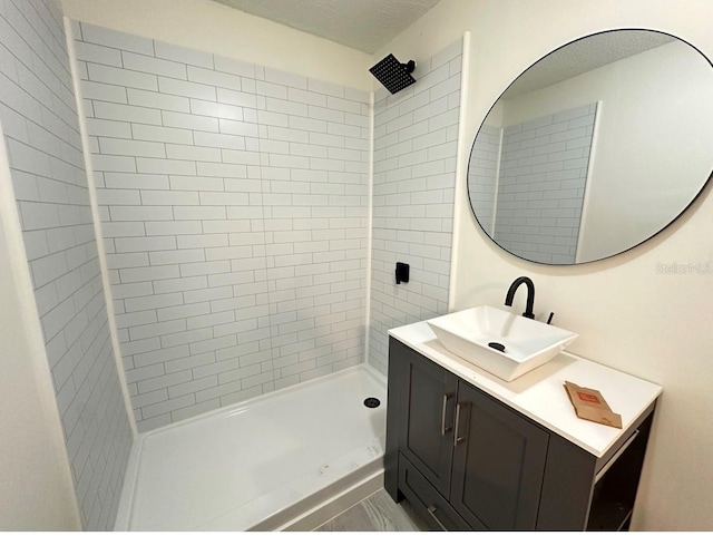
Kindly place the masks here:
POLYGON ((448 312, 461 57, 459 40, 374 104, 369 362, 384 374, 388 330, 448 312), (409 283, 394 284, 397 261, 409 283))

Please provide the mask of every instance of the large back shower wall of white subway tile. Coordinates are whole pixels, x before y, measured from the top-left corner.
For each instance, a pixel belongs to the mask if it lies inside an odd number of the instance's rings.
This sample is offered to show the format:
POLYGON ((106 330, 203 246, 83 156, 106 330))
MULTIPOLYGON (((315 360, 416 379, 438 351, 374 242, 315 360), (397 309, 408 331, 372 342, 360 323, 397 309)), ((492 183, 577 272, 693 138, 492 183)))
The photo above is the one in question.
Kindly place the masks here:
POLYGON ((361 362, 369 94, 75 28, 139 430, 361 362))

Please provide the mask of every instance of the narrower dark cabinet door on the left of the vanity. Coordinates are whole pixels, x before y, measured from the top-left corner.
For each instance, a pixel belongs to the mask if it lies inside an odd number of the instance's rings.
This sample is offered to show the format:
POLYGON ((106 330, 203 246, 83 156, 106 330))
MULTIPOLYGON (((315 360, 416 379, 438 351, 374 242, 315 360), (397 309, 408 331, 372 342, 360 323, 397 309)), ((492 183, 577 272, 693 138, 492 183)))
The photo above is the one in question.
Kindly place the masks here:
POLYGON ((389 359, 402 360, 406 415, 399 422, 399 449, 448 497, 453 441, 453 407, 458 379, 446 369, 399 345, 389 359))

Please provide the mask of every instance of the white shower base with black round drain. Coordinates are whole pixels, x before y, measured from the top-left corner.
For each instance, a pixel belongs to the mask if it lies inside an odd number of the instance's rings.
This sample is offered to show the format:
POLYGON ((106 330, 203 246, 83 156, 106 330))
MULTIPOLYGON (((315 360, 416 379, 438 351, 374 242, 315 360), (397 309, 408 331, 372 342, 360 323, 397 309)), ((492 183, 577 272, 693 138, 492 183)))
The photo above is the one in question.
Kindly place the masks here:
POLYGON ((382 485, 385 401, 360 366, 141 433, 115 528, 312 528, 299 519, 382 485))

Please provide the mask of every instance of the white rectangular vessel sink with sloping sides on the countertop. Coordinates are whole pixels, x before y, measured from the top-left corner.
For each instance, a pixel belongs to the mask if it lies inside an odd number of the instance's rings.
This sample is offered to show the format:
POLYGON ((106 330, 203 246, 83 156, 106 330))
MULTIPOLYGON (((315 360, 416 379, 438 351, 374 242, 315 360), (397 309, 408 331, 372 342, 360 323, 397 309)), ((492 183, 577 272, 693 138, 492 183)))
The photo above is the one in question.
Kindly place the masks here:
POLYGON ((446 314, 428 324, 449 351, 505 381, 545 364, 579 337, 488 305, 446 314), (505 348, 492 348, 498 344, 505 348))

